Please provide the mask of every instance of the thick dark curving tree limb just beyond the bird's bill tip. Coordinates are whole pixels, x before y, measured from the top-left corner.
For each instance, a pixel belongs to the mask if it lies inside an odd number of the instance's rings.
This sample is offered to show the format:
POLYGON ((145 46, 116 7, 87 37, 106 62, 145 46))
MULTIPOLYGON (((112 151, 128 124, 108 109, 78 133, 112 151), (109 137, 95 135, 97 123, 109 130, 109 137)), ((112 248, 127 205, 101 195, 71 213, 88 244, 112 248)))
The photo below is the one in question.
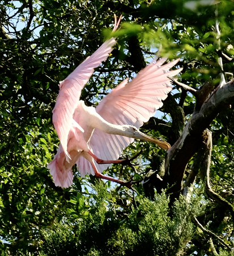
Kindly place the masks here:
MULTIPOLYGON (((206 90, 205 90, 206 91, 206 90)), ((181 191, 183 175, 190 158, 202 147, 206 137, 204 130, 223 109, 234 100, 234 86, 231 82, 218 88, 203 103, 199 112, 194 112, 181 137, 168 150, 165 162, 164 188, 171 187, 168 193, 181 191)))

